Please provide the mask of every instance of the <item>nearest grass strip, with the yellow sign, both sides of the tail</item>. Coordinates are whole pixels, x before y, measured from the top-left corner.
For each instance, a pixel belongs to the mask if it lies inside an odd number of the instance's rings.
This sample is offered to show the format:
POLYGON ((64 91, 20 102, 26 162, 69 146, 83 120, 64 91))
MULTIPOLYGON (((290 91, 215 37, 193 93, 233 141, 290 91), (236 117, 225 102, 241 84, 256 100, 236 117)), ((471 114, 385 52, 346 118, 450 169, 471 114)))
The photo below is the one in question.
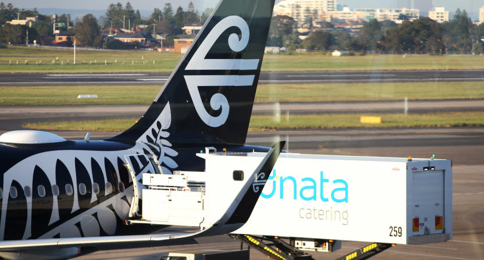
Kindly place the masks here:
MULTIPOLYGON (((484 112, 452 112, 433 114, 372 114, 381 116, 381 124, 362 124, 360 116, 365 114, 330 114, 330 115, 294 115, 282 116, 252 116, 250 131, 265 131, 279 129, 320 129, 320 128, 394 128, 394 127, 455 127, 484 126, 484 112)), ((95 121, 69 121, 29 123, 25 128, 84 130, 84 131, 124 131, 138 119, 111 119, 95 121)))

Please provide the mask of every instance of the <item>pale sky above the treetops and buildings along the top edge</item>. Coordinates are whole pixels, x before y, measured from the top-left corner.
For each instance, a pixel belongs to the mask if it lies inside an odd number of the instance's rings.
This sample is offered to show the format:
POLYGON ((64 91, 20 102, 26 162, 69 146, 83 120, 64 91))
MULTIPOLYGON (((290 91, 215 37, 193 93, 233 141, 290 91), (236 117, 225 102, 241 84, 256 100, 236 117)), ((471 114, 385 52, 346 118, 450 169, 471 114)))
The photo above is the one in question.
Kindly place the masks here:
MULTIPOLYGON (((0 0, 4 3, 12 3, 17 8, 33 9, 33 8, 57 8, 57 9, 83 9, 83 10, 106 10, 109 4, 128 2, 127 0, 0 0)), ((213 8, 217 5, 218 0, 192 0, 195 8, 203 12, 205 8, 213 8)), ((243 1, 243 0, 241 0, 243 1)), ((276 3, 281 0, 276 0, 276 3)), ((416 0, 418 1, 418 0, 416 0)), ((135 9, 153 10, 154 8, 162 8, 165 3, 171 3, 174 8, 181 6, 187 9, 190 0, 143 0, 134 1, 130 3, 135 9)), ((347 5, 350 8, 396 8, 397 0, 337 0, 338 5, 347 5)), ((457 8, 465 9, 470 13, 477 13, 478 9, 484 6, 482 0, 434 0, 435 6, 445 7, 446 10, 455 12, 457 8)))

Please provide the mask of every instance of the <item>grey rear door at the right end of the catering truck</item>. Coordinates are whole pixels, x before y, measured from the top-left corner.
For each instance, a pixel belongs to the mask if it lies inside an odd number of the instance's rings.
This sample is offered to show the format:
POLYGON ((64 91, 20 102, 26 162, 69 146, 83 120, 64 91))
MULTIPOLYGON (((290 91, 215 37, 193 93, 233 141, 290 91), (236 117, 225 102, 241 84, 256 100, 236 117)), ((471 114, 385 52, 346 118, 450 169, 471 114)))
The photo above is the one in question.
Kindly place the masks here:
POLYGON ((443 233, 444 171, 413 172, 413 235, 443 233))

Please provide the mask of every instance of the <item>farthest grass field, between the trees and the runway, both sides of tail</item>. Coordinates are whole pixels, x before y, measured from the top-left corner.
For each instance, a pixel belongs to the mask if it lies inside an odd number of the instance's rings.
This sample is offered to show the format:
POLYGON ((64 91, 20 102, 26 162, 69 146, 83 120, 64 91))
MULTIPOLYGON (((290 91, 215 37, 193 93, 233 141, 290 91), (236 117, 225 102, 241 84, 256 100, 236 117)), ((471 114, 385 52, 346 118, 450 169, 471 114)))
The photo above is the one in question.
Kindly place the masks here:
MULTIPOLYGON (((39 49, 9 46, 0 49, 2 73, 170 72, 179 53, 146 51, 39 49), (153 64, 154 61, 154 64, 153 64)), ((479 55, 363 55, 332 57, 326 53, 266 54, 263 71, 320 70, 447 70, 484 69, 479 55)))

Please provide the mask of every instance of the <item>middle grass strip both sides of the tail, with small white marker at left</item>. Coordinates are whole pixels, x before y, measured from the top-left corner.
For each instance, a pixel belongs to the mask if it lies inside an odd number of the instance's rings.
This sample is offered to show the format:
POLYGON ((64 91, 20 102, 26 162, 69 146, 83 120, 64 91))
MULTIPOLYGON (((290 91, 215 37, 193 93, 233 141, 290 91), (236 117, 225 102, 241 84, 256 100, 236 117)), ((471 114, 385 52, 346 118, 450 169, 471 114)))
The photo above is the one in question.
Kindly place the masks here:
MULTIPOLYGON (((0 86, 0 106, 150 104, 161 85, 0 86), (96 94, 97 99, 77 99, 96 94)), ((484 81, 331 84, 261 84, 255 102, 329 102, 481 99, 484 81)))

